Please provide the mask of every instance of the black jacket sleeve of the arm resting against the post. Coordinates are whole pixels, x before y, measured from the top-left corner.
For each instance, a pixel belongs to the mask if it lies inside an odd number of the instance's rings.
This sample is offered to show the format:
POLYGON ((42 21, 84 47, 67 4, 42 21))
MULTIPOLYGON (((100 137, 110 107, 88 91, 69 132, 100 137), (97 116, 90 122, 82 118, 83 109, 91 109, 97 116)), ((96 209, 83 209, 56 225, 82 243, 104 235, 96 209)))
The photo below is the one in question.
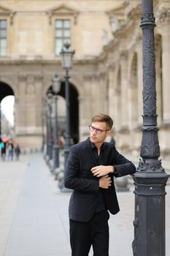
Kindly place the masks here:
POLYGON ((135 165, 123 157, 117 150, 115 151, 115 165, 116 169, 115 177, 122 177, 125 175, 133 174, 136 172, 135 165))

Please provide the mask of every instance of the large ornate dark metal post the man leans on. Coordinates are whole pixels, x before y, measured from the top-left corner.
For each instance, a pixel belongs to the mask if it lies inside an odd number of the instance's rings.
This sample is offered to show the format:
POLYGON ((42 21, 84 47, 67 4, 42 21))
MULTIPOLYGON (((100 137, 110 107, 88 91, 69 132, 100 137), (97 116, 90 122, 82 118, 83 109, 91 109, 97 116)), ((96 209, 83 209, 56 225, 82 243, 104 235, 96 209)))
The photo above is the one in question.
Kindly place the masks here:
POLYGON ((139 167, 134 174, 134 256, 165 256, 165 186, 161 166, 155 89, 153 1, 142 0, 143 127, 139 167))

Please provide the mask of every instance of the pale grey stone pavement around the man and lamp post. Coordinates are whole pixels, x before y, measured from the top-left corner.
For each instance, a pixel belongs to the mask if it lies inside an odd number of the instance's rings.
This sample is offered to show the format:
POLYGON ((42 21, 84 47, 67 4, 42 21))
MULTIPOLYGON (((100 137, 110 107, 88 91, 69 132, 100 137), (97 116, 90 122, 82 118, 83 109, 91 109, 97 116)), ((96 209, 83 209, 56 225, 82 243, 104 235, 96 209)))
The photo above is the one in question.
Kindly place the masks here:
MULTIPOLYGON (((132 256, 134 185, 118 192, 120 213, 110 215, 110 256, 132 256)), ((166 255, 170 255, 170 186, 166 187, 166 255)), ((71 256, 68 204, 42 154, 0 160, 0 256, 71 256)), ((89 256, 93 253, 90 252, 89 256)))

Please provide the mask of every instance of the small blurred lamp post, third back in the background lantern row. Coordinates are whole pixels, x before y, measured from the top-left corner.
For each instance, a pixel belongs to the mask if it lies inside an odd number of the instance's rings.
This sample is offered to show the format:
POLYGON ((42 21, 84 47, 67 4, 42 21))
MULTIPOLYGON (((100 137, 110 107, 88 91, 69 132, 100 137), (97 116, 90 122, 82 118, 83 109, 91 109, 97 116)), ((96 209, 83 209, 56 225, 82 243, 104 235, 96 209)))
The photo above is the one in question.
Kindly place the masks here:
POLYGON ((47 138, 47 152, 48 152, 48 161, 52 159, 53 157, 53 141, 52 141, 52 118, 51 118, 51 103, 52 103, 52 97, 53 92, 52 90, 47 91, 47 132, 48 132, 48 138, 47 138))

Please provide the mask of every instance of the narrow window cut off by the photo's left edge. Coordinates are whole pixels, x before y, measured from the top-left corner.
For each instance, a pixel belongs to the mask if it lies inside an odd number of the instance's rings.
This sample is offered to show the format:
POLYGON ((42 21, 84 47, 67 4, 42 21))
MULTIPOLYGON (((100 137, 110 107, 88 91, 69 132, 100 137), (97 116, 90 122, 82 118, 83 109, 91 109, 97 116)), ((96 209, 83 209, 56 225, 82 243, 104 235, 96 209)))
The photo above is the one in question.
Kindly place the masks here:
POLYGON ((0 20, 0 56, 7 55, 7 20, 0 20))

